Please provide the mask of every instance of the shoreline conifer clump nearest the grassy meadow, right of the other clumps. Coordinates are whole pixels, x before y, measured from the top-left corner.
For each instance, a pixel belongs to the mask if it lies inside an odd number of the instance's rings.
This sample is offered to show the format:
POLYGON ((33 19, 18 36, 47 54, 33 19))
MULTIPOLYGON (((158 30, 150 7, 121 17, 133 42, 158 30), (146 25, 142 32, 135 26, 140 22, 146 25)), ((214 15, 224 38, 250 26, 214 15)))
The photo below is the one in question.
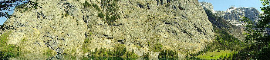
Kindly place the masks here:
POLYGON ((178 52, 173 50, 163 50, 158 55, 159 58, 175 58, 178 57, 178 52))

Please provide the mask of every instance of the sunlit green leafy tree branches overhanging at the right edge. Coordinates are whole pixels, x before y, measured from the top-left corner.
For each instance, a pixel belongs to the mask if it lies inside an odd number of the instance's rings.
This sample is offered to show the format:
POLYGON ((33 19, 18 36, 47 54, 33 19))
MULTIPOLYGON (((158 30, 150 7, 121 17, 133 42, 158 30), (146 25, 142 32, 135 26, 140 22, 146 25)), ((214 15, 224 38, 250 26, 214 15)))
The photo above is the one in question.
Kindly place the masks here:
POLYGON ((247 17, 242 17, 242 21, 246 22, 247 24, 245 25, 246 29, 245 31, 247 33, 245 34, 245 41, 248 42, 253 42, 260 44, 260 43, 269 43, 269 23, 270 23, 270 6, 269 6, 269 1, 270 0, 261 0, 264 1, 263 7, 262 8, 262 14, 260 18, 261 20, 258 20, 258 22, 253 21, 247 17), (265 16, 262 16, 265 15, 265 16))

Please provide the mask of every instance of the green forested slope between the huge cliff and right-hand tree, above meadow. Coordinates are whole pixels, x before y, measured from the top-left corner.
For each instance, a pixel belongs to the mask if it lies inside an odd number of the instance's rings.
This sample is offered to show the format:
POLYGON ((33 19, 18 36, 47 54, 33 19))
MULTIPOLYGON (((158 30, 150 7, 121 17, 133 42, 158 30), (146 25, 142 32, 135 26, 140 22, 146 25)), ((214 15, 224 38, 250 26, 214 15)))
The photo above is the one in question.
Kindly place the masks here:
POLYGON ((200 52, 190 54, 191 56, 201 55, 203 52, 213 52, 216 49, 219 50, 231 50, 231 51, 239 51, 247 46, 250 46, 249 43, 244 43, 241 40, 238 40, 234 36, 230 35, 229 32, 238 32, 238 36, 241 36, 241 30, 239 30, 236 26, 232 25, 231 23, 227 22, 221 16, 216 16, 212 11, 205 10, 208 19, 213 23, 213 29, 216 33, 216 37, 214 42, 209 43, 206 45, 205 49, 201 50, 200 52))

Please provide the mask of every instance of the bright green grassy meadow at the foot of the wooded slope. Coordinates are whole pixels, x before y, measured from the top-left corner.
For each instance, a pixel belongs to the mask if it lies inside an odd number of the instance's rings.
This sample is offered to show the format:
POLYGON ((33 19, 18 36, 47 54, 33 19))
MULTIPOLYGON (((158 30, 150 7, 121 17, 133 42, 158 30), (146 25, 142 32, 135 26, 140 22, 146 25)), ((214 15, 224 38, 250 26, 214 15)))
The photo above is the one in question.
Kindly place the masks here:
POLYGON ((202 55, 198 55, 198 56, 195 56, 197 58, 201 58, 201 59, 206 59, 206 60, 210 60, 210 59, 218 59, 221 55, 222 56, 225 56, 226 54, 227 55, 230 55, 230 54, 233 54, 234 51, 229 51, 229 50, 221 50, 220 52, 217 52, 214 51, 214 52, 207 52, 207 53, 202 53, 202 55), (211 55, 213 55, 214 57, 211 57, 211 55))

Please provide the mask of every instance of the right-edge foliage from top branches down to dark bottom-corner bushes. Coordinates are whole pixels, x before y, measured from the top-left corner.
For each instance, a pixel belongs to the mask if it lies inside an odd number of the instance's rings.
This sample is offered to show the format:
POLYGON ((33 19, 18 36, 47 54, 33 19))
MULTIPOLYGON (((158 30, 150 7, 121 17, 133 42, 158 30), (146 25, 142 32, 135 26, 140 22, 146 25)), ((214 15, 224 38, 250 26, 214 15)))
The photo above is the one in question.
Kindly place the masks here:
POLYGON ((261 20, 253 21, 247 17, 242 17, 241 21, 247 23, 245 25, 245 41, 254 42, 255 44, 242 49, 238 53, 235 53, 232 57, 234 60, 269 60, 270 59, 270 0, 261 0, 263 7, 261 20))

